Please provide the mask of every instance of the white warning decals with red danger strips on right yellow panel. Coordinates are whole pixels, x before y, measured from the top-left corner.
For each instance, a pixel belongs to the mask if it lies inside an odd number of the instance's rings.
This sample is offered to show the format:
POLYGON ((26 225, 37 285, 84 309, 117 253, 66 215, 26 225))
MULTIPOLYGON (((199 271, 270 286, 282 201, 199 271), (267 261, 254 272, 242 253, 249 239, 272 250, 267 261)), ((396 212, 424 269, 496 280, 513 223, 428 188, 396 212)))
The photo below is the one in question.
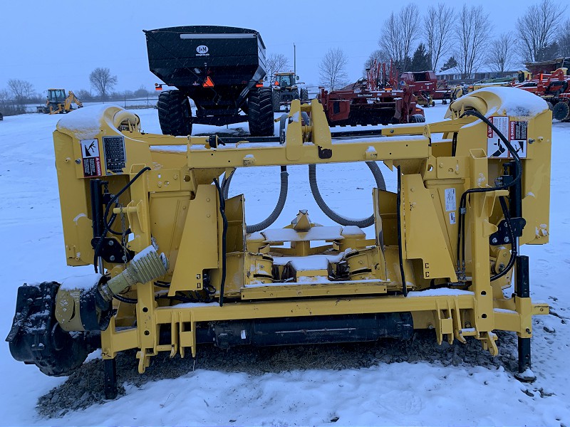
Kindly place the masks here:
MULTIPOLYGON (((506 116, 489 117, 494 127, 509 139, 514 150, 519 157, 527 157, 527 127, 528 122, 510 120, 506 116)), ((511 153, 499 138, 497 132, 487 126, 487 157, 497 157, 499 159, 509 159, 511 153)))

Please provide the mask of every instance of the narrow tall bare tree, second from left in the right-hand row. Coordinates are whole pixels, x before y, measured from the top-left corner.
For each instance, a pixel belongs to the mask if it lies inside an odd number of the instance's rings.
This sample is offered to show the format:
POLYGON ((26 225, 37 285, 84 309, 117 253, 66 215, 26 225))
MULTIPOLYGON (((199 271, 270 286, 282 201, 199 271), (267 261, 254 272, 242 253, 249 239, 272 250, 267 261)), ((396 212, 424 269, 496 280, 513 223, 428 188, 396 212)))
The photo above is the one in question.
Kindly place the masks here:
POLYGON ((447 55, 452 48, 452 39, 447 28, 453 22, 455 10, 445 4, 427 8, 427 16, 424 21, 423 36, 425 46, 430 56, 432 70, 437 70, 437 65, 443 56, 447 55))

